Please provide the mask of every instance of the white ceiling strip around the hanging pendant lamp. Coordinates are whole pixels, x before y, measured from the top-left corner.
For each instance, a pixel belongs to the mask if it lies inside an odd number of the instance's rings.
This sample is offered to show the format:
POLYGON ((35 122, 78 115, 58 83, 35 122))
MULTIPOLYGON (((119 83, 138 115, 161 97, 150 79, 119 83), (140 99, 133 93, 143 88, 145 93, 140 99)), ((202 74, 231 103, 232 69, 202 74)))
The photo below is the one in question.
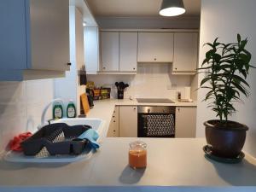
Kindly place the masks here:
MULTIPOLYGON (((162 0, 86 0, 96 16, 160 16, 162 0)), ((183 0, 185 16, 199 16, 201 0, 183 0)))

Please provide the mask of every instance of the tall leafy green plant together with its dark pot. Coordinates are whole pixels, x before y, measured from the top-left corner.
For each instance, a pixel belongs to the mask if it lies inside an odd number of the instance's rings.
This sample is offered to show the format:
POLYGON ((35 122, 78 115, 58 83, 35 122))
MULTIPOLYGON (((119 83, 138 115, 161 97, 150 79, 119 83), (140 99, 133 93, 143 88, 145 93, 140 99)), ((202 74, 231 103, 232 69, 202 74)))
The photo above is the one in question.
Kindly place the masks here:
MULTIPOLYGON (((249 96, 247 88, 247 75, 251 54, 247 49, 247 38, 241 40, 237 34, 237 42, 223 44, 218 38, 206 53, 199 73, 205 73, 201 80, 201 88, 207 89, 204 101, 208 108, 216 113, 218 119, 208 120, 206 126, 207 144, 211 147, 212 154, 221 158, 234 159, 241 154, 241 148, 245 143, 247 125, 230 121, 232 113, 236 113, 235 102, 241 102, 241 96, 249 96)), ((255 67, 253 67, 255 68, 255 67)))

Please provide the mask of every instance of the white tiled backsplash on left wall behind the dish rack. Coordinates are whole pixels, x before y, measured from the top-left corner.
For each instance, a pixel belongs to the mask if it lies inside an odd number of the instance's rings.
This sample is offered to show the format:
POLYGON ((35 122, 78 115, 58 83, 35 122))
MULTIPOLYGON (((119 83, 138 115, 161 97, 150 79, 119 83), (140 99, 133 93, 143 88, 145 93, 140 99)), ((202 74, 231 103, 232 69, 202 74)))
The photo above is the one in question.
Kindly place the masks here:
MULTIPOLYGON (((0 153, 20 132, 37 130, 53 90, 52 79, 0 82, 0 153)), ((46 118, 51 116, 49 109, 46 118)))

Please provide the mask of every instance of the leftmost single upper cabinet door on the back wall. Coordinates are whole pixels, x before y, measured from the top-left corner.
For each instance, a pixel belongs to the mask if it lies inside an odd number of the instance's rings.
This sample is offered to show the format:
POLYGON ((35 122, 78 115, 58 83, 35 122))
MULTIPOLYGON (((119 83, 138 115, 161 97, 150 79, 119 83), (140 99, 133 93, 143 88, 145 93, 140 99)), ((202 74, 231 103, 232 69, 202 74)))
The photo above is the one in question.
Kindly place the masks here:
POLYGON ((119 71, 119 32, 101 32, 102 71, 119 71))

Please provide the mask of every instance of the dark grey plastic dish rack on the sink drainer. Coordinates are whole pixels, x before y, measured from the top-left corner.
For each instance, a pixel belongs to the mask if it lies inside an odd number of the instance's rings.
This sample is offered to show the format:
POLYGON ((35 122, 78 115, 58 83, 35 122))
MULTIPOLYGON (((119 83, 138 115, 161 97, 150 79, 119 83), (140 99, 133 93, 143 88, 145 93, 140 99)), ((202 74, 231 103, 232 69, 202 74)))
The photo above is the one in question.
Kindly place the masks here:
POLYGON ((65 123, 46 125, 20 144, 23 153, 30 156, 78 155, 83 152, 88 143, 87 139, 78 137, 89 129, 91 129, 90 125, 70 126, 65 123))

